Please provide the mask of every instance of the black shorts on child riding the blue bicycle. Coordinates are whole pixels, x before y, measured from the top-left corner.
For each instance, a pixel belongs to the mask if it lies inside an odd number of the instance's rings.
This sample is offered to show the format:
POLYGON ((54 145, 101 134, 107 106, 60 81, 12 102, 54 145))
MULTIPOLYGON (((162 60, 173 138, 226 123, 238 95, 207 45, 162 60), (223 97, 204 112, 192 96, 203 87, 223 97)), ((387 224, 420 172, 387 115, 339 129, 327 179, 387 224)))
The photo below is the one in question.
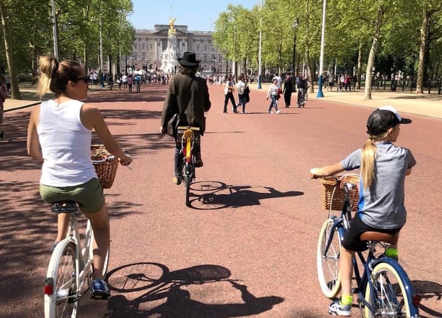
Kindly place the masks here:
POLYGON ((359 218, 359 213, 356 213, 350 221, 350 228, 345 231, 344 238, 342 239, 342 246, 344 246, 347 250, 362 252, 368 249, 367 241, 360 240, 360 236, 362 233, 373 231, 394 235, 399 233, 402 227, 388 230, 375 229, 363 223, 362 220, 359 218))

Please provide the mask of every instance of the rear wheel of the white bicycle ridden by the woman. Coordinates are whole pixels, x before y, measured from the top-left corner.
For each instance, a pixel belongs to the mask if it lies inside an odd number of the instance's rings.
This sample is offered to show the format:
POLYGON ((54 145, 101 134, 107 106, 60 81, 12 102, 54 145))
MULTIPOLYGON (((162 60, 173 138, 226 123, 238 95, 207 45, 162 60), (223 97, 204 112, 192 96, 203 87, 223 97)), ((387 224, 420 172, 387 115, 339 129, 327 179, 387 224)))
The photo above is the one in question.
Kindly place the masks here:
POLYGON ((75 318, 78 311, 76 246, 70 240, 57 244, 49 261, 46 279, 53 281, 53 294, 44 295, 45 318, 75 318), (63 288, 62 288, 63 287, 63 288))

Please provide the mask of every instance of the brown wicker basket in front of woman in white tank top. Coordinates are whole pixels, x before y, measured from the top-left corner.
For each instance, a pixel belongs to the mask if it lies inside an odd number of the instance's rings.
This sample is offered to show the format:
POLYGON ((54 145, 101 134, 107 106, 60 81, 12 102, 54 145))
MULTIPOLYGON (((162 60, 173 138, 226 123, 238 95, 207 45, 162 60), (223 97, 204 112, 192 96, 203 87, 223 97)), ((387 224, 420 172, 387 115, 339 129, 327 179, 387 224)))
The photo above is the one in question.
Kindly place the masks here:
MULTIPOLYGON (((91 145, 92 160, 107 159, 110 156, 110 153, 104 145, 91 145)), ((94 166, 102 187, 109 189, 115 179, 116 169, 118 168, 118 158, 109 159, 101 163, 94 163, 94 166)))

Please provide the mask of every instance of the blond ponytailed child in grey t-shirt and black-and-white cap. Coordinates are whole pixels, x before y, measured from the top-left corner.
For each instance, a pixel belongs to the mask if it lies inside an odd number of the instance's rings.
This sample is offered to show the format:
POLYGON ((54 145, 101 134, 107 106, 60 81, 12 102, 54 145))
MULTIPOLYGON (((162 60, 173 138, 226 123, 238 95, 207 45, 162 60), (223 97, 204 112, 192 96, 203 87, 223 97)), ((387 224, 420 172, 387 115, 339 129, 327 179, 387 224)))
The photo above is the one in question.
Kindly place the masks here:
MULTIPOLYGON (((333 165, 310 170, 315 176, 325 177, 360 168, 358 210, 342 239, 339 260, 342 296, 330 305, 333 315, 351 316, 352 257, 355 252, 367 249, 360 235, 369 231, 399 235, 406 222, 405 176, 411 173, 416 160, 409 149, 392 143, 398 139, 400 124, 409 123, 411 120, 402 118, 394 107, 379 107, 368 117, 369 137, 362 149, 333 165)), ((391 245, 385 253, 387 257, 397 259, 397 245, 391 245)))

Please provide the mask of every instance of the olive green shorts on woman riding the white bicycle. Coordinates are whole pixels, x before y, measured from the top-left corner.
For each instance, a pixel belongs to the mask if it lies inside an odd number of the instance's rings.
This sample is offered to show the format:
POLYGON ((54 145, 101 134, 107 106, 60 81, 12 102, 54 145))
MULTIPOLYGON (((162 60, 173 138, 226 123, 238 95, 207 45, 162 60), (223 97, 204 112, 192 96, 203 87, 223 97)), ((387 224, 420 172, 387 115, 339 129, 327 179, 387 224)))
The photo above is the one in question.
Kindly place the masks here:
POLYGON ((70 187, 51 187, 40 183, 40 196, 47 203, 76 201, 80 209, 88 214, 97 213, 105 205, 103 188, 97 178, 70 187))

